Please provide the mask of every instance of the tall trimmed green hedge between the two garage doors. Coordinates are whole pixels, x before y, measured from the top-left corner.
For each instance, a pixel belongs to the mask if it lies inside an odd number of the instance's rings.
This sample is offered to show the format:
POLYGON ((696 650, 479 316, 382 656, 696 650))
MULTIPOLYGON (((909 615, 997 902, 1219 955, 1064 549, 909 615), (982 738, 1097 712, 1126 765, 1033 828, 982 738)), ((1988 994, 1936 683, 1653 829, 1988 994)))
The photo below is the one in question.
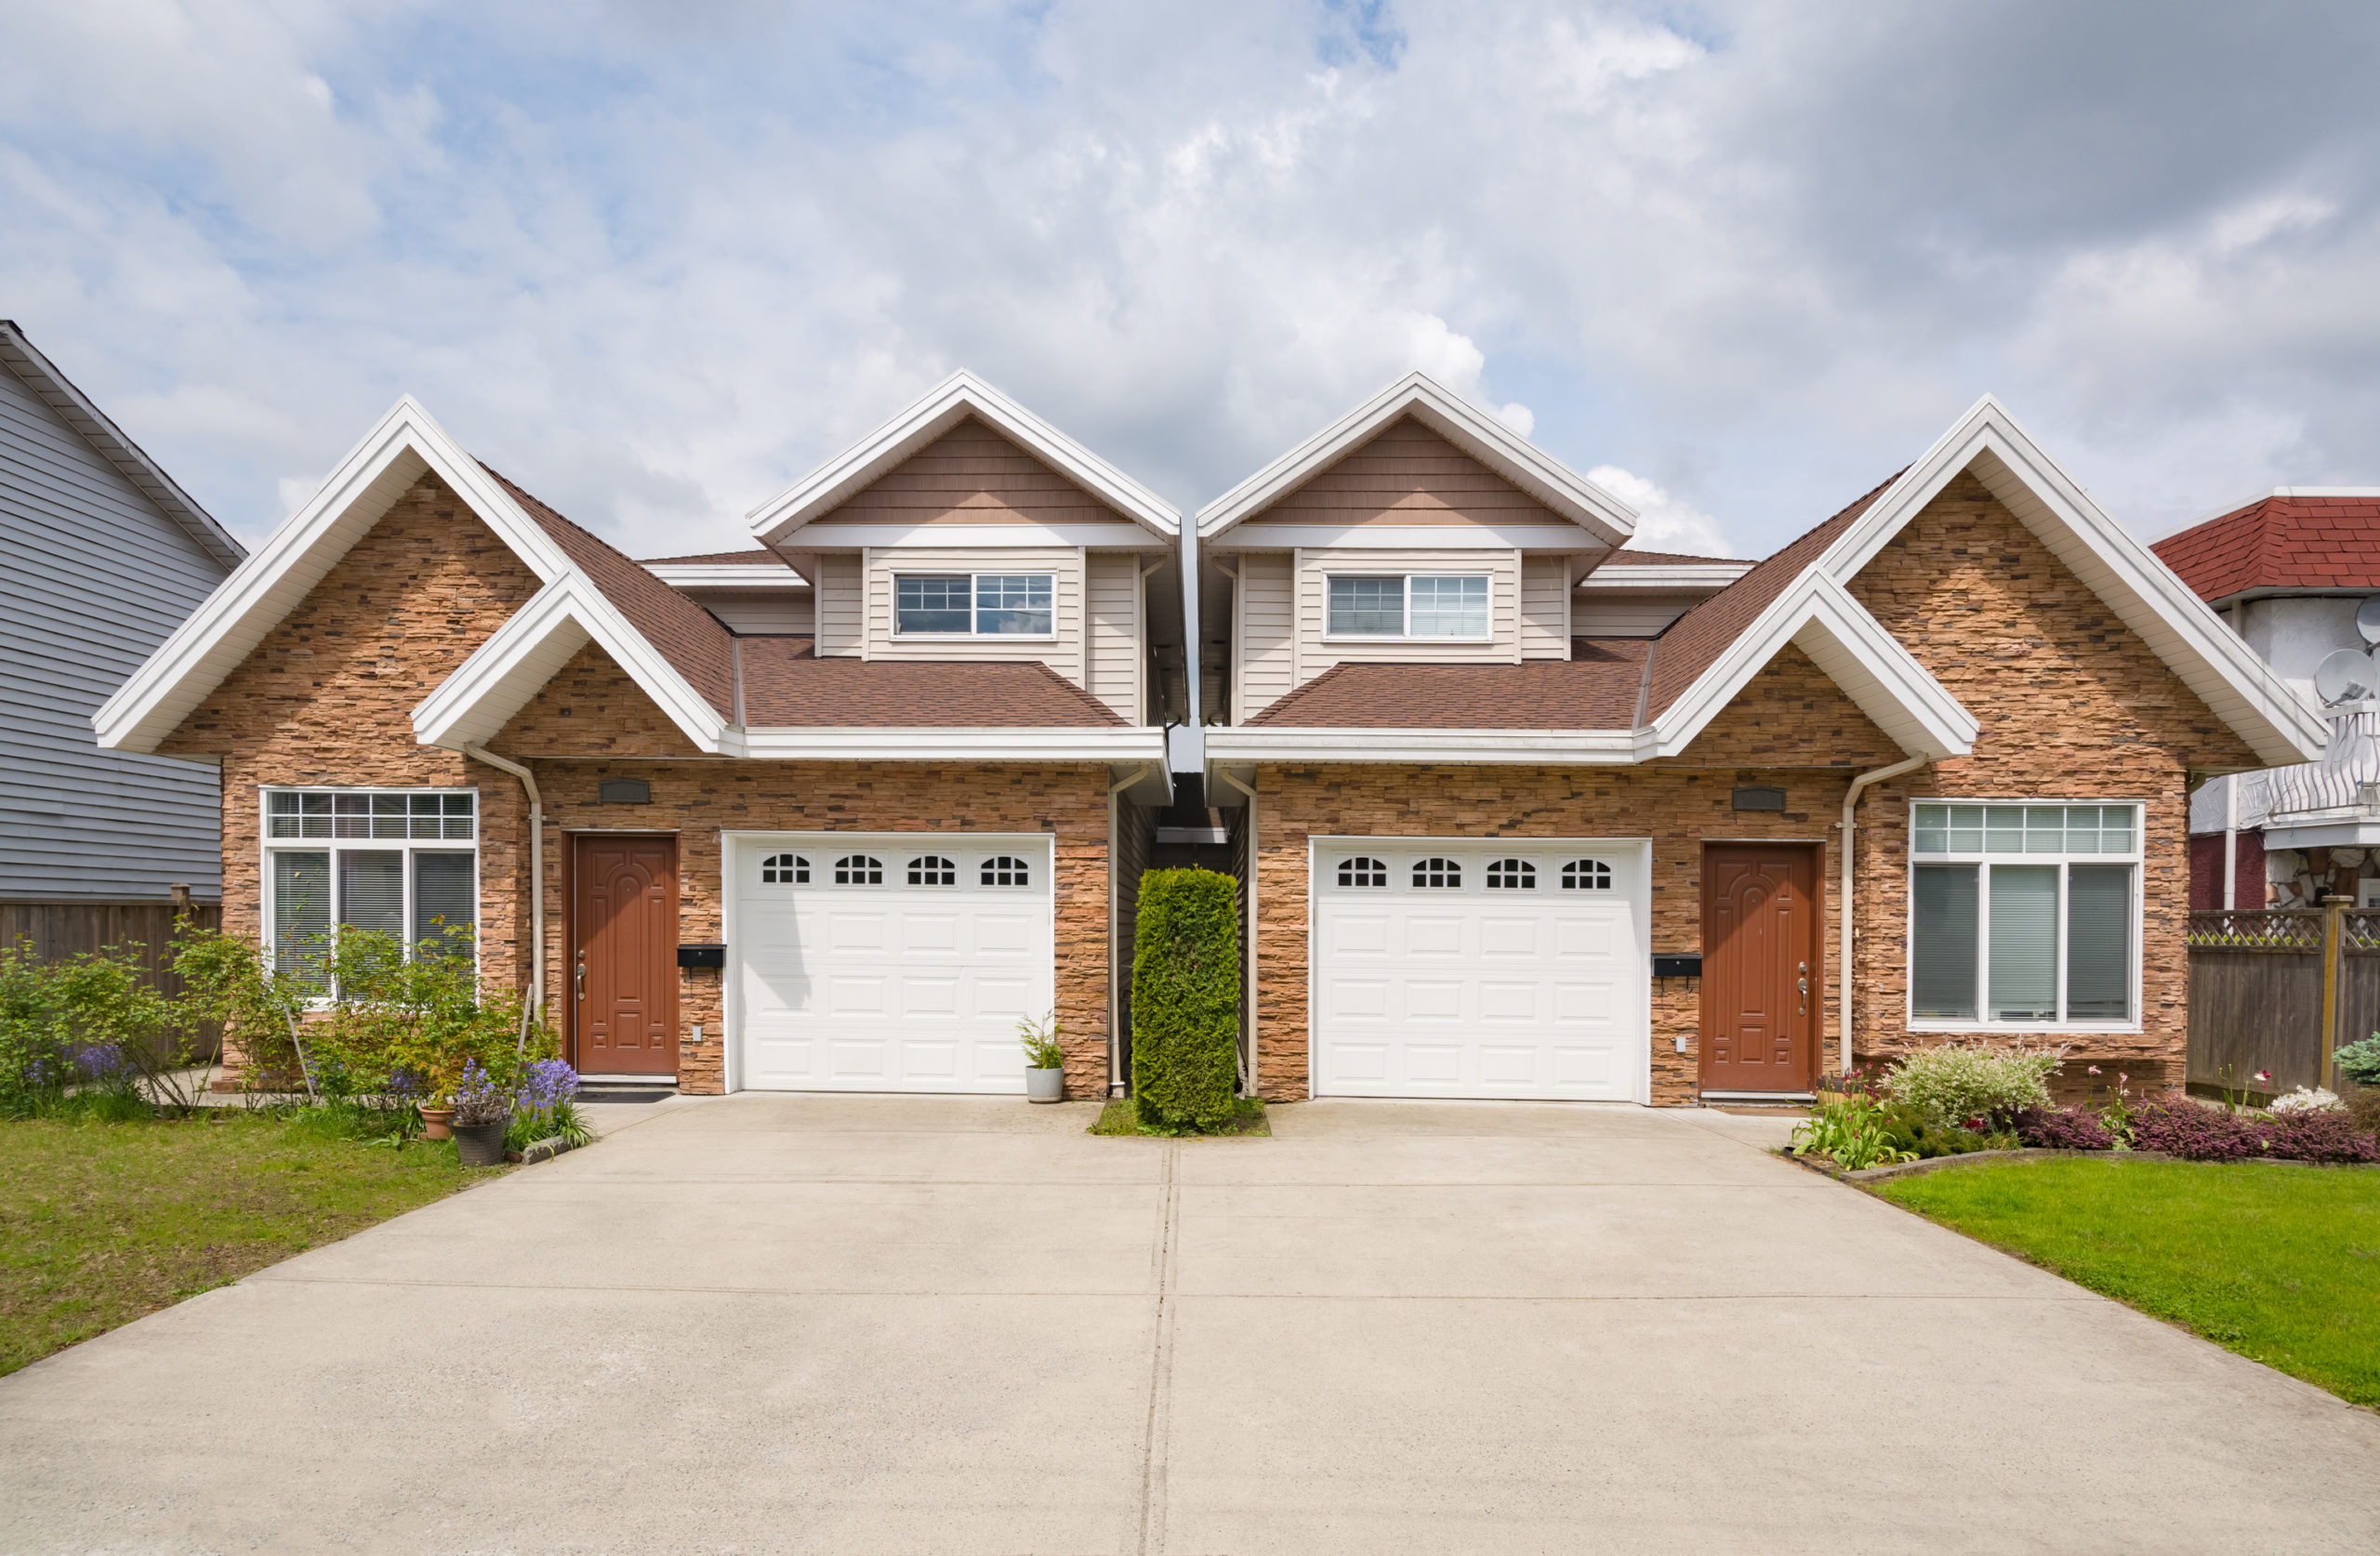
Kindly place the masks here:
POLYGON ((1154 1128, 1211 1130, 1233 1118, 1238 1090, 1238 883, 1150 871, 1133 945, 1133 1113, 1154 1128))

